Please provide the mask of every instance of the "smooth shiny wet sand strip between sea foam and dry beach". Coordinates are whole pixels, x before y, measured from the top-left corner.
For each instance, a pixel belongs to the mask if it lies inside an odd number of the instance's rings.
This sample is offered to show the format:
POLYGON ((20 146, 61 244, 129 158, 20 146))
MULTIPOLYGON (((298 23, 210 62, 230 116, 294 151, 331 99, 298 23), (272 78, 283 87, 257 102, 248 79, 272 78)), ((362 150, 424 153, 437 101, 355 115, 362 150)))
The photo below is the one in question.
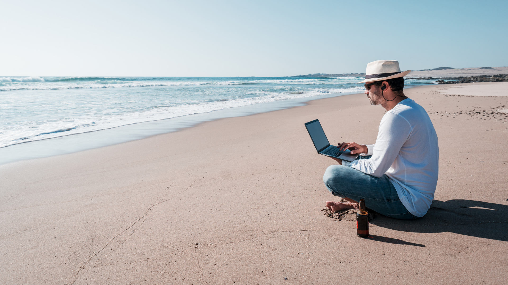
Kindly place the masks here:
POLYGON ((153 135, 179 131, 207 121, 268 113, 305 105, 306 102, 312 100, 333 98, 350 94, 356 93, 332 93, 320 96, 250 104, 205 113, 183 115, 162 120, 145 121, 100 130, 18 142, 17 144, 0 148, 0 165, 121 144, 123 142, 143 139, 153 135))

